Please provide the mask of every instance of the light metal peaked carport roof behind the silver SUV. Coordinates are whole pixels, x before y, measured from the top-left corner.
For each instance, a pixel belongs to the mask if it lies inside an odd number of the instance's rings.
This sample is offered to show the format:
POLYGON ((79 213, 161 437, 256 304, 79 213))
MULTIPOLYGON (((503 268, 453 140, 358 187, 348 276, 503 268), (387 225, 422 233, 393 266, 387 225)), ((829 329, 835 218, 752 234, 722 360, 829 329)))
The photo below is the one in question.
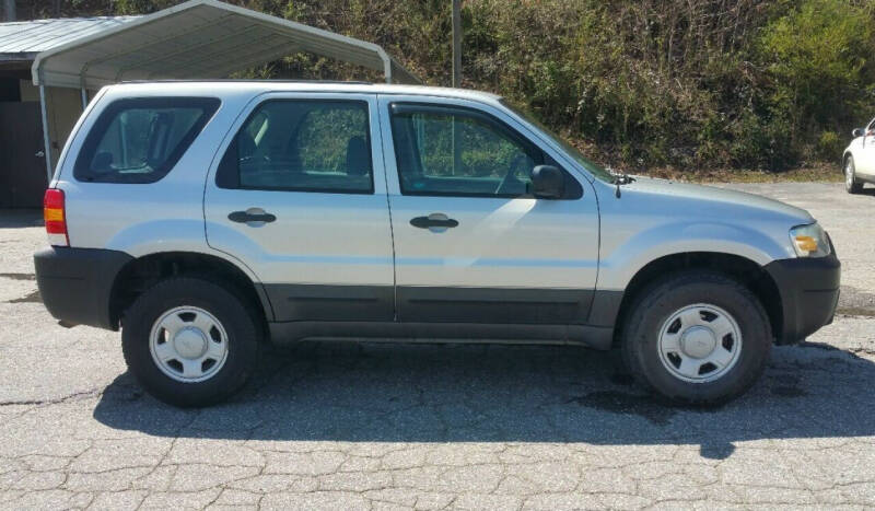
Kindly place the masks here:
POLYGON ((217 0, 190 0, 36 56, 37 85, 97 89, 127 80, 211 79, 312 53, 420 83, 381 46, 217 0))

